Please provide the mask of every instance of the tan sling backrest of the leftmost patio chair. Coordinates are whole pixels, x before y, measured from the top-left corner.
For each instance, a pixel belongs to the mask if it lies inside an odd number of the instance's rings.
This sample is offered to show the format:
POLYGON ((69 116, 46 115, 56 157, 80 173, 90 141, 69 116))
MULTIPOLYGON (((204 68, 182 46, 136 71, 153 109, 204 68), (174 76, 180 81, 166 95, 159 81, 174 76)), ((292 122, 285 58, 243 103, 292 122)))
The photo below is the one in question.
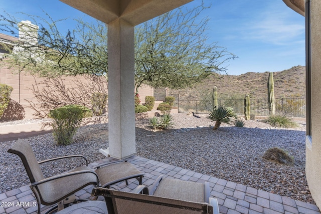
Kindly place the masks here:
POLYGON ((18 139, 8 152, 17 154, 21 158, 31 183, 44 179, 40 165, 29 142, 18 139))

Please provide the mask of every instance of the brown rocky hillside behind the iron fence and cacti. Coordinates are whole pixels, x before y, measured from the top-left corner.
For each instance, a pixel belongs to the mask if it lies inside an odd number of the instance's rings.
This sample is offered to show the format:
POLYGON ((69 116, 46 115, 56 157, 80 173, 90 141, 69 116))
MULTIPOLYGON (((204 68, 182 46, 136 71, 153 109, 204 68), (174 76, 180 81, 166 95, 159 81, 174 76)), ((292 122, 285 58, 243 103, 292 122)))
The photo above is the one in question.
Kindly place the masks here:
MULTIPOLYGON (((241 75, 212 74, 202 83, 192 88, 171 90, 170 94, 180 94, 180 99, 200 99, 212 96, 213 87, 218 88, 219 99, 244 99, 249 94, 253 99, 267 97, 269 72, 248 72, 241 75)), ((290 69, 273 72, 275 98, 305 97, 305 67, 294 66, 290 69)))

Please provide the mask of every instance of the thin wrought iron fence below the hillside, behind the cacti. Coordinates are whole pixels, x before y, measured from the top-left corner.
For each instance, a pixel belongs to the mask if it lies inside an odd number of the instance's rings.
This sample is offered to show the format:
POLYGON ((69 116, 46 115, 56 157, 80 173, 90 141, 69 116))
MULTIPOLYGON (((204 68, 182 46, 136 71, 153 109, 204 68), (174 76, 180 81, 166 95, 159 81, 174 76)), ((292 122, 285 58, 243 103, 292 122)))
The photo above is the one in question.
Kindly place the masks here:
MULTIPOLYGON (((173 95, 171 95, 173 96, 173 95)), ((251 113, 256 116, 268 116, 267 99, 251 99, 251 113)), ((208 113, 213 109, 212 100, 180 100, 176 97, 176 106, 179 113, 188 113, 193 111, 197 114, 208 113)), ((219 106, 232 107, 238 115, 244 114, 243 99, 218 100, 219 106)), ((275 110, 286 113, 292 117, 305 117, 305 98, 277 98, 275 99, 275 110)))

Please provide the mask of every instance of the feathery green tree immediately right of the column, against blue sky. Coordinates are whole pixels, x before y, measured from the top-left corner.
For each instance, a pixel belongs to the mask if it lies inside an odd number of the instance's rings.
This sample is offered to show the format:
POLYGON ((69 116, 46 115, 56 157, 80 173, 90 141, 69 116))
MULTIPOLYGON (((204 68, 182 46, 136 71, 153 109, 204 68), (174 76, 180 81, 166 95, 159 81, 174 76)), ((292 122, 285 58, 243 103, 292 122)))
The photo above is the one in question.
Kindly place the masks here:
POLYGON ((217 43, 207 44, 206 8, 179 8, 135 29, 135 85, 181 89, 200 82, 235 56, 217 43), (198 18, 198 19, 197 19, 198 18))

